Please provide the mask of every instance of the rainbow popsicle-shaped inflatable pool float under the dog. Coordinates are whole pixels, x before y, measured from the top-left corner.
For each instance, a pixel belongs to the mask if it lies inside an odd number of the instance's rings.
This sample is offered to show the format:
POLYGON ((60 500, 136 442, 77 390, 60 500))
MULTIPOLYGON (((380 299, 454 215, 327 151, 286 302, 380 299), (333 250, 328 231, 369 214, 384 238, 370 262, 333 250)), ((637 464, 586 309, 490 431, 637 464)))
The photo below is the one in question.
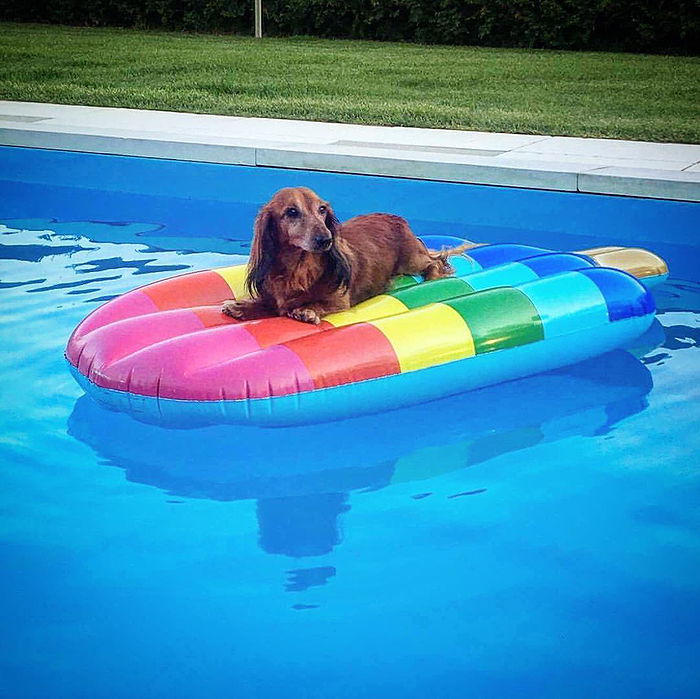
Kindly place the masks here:
MULTIPOLYGON (((463 242, 424 240, 433 248, 463 242)), ((221 302, 243 295, 244 265, 184 274, 95 310, 66 357, 98 402, 145 421, 336 420, 624 346, 651 325, 648 287, 667 275, 660 258, 634 248, 483 245, 451 262, 453 277, 398 277, 386 293, 318 326, 224 316, 221 302)))

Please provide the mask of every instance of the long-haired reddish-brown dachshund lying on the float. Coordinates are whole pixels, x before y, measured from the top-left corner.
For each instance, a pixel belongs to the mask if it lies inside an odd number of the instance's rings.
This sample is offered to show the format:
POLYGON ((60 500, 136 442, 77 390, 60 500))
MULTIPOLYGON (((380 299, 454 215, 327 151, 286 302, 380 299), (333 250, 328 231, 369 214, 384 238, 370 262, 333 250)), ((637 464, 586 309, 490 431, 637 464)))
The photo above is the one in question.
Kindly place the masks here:
POLYGON ((398 274, 449 276, 448 255, 470 247, 430 251, 391 214, 356 216, 341 225, 315 192, 288 187, 255 221, 246 280, 251 298, 226 301, 221 310, 239 320, 289 316, 319 323, 382 293, 398 274))

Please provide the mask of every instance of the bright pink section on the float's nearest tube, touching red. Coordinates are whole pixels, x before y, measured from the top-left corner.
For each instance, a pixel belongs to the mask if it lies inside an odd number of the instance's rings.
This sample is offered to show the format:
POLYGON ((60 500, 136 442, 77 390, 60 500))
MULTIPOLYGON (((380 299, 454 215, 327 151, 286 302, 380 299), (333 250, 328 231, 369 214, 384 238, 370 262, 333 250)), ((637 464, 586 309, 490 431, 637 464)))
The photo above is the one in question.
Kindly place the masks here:
POLYGON ((192 378, 202 388, 201 393, 172 397, 242 400, 286 396, 314 388, 313 379, 301 359, 281 345, 272 345, 225 364, 206 367, 193 374, 192 378))

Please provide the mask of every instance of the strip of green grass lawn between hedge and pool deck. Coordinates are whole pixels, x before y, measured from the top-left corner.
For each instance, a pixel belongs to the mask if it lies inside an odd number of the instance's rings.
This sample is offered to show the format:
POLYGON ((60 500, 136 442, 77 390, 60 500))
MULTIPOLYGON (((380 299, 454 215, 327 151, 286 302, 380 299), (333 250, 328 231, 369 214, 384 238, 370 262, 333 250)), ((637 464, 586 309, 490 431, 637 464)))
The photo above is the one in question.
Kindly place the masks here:
POLYGON ((700 59, 0 24, 0 99, 700 142, 700 59))

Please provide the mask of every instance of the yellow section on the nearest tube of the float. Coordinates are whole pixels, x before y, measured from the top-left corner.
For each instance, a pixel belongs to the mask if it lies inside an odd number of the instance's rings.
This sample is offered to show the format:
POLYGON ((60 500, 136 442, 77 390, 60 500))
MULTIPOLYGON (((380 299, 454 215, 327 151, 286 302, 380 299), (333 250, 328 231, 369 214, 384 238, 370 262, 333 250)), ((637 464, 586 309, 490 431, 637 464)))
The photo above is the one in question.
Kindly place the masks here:
POLYGON ((462 316, 433 303, 409 313, 372 321, 391 343, 401 371, 453 362, 475 354, 474 339, 462 316))

